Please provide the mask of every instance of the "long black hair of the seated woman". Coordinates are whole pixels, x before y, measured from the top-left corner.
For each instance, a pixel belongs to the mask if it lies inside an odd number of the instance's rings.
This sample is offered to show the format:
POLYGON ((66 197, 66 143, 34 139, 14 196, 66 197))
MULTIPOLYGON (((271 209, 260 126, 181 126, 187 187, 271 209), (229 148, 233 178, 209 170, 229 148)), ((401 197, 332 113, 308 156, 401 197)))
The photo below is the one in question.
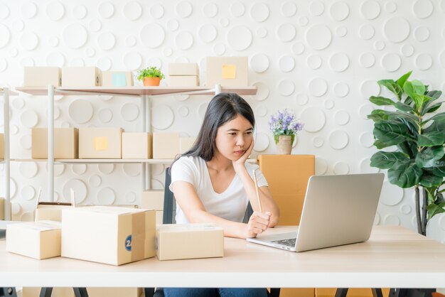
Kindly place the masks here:
MULTIPOLYGON (((191 149, 181 156, 201 157, 205 161, 210 161, 213 156, 215 156, 215 139, 218 128, 227 123, 227 121, 235 119, 238 114, 245 117, 245 119, 252 124, 252 127, 255 126, 252 108, 240 95, 235 93, 220 93, 215 95, 215 97, 210 100, 205 111, 204 121, 195 143, 191 149)), ((178 158, 176 158, 176 160, 178 158)))

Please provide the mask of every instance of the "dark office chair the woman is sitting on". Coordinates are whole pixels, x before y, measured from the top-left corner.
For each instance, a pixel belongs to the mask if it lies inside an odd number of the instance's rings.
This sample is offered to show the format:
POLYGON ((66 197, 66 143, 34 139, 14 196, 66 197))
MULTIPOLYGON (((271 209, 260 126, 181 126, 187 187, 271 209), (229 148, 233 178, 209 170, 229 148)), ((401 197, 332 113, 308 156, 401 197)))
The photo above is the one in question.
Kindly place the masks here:
MULTIPOLYGON (((173 195, 173 192, 168 188, 171 183, 171 174, 170 168, 166 168, 166 178, 163 186, 163 216, 162 223, 163 224, 174 224, 174 215, 173 213, 176 211, 176 202, 173 195)), ((247 205, 246 215, 243 222, 249 221, 249 217, 252 215, 253 210, 252 206, 247 205)), ((270 288, 268 292, 268 297, 279 297, 279 288, 270 288)), ((145 288, 145 296, 146 297, 163 297, 163 288, 156 288, 156 291, 153 291, 153 288, 145 288)))

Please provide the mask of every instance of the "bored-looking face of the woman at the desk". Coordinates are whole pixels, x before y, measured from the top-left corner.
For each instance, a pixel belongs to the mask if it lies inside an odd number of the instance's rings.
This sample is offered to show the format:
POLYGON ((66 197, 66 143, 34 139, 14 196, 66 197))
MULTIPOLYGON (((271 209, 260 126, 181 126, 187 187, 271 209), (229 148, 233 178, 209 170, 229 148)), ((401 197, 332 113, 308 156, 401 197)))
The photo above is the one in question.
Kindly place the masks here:
POLYGON ((227 121, 218 128, 215 139, 216 153, 220 153, 231 161, 236 161, 247 151, 252 140, 252 124, 245 117, 237 115, 235 119, 227 121))

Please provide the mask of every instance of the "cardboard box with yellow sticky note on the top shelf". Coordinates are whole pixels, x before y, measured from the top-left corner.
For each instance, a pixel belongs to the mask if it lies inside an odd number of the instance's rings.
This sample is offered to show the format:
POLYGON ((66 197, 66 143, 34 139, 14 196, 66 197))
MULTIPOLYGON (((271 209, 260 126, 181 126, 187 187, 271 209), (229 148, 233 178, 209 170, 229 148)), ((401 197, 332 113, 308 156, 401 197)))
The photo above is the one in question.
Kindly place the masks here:
POLYGON ((207 57, 205 86, 246 87, 247 74, 247 57, 207 57))

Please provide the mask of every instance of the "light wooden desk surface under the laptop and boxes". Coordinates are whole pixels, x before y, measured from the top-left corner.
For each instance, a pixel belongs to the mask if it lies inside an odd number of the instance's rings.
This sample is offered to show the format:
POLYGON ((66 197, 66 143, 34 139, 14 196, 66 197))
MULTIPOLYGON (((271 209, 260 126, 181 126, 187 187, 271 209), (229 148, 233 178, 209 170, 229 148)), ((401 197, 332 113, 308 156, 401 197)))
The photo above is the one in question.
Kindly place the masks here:
POLYGON ((61 257, 39 261, 6 252, 2 241, 1 286, 444 288, 445 245, 402 227, 377 226, 368 242, 343 247, 294 253, 226 238, 223 258, 110 266, 61 257))

